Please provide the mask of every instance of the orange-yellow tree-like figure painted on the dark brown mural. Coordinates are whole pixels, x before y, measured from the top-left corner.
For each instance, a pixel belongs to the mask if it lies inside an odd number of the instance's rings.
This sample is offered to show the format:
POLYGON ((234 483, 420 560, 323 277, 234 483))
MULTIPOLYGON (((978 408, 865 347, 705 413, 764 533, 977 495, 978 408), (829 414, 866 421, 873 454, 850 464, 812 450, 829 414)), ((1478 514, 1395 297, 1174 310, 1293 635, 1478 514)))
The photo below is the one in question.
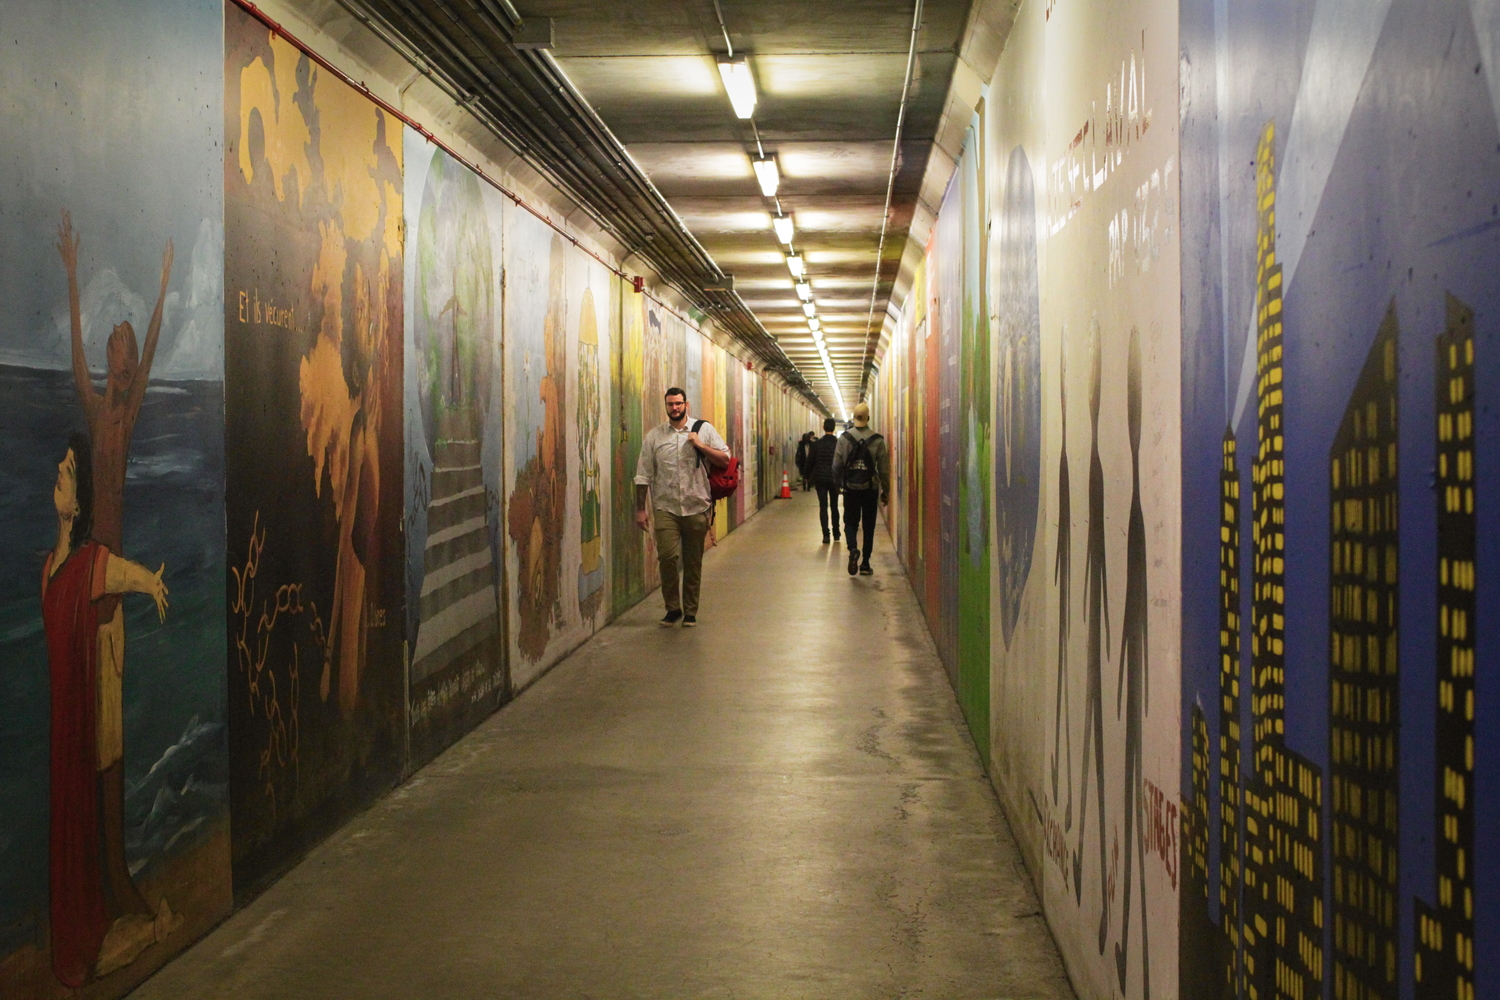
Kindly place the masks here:
MULTIPOLYGON (((348 717, 360 693, 374 600, 370 565, 380 552, 381 396, 396 358, 392 298, 398 292, 400 232, 399 126, 358 91, 322 76, 284 39, 268 58, 238 73, 237 166, 244 181, 315 220, 318 256, 302 312, 255 321, 316 337, 297 385, 306 454, 318 498, 333 504, 338 556, 322 643, 318 694, 348 717), (309 315, 303 315, 303 312, 309 315), (321 316, 318 315, 321 312, 321 316)), ((260 309, 260 304, 255 304, 260 309)))

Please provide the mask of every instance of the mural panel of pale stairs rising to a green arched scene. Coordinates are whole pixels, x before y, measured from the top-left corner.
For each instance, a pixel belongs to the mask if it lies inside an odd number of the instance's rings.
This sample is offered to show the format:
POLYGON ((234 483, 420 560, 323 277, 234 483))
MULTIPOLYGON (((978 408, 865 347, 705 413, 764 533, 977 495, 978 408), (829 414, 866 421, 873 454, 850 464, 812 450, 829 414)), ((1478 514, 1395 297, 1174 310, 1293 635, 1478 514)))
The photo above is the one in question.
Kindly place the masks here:
POLYGON ((501 195, 405 132, 406 648, 412 763, 508 690, 500 595, 501 195))

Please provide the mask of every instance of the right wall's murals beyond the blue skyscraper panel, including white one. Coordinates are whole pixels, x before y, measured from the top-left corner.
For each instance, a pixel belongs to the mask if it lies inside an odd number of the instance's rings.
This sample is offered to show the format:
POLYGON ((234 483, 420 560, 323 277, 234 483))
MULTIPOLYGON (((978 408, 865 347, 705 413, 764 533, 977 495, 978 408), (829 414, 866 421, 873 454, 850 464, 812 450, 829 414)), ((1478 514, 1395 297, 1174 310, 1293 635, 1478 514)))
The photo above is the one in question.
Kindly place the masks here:
POLYGON ((1020 9, 879 388, 903 558, 1090 999, 1178 996, 1174 45, 1144 3, 1020 9))

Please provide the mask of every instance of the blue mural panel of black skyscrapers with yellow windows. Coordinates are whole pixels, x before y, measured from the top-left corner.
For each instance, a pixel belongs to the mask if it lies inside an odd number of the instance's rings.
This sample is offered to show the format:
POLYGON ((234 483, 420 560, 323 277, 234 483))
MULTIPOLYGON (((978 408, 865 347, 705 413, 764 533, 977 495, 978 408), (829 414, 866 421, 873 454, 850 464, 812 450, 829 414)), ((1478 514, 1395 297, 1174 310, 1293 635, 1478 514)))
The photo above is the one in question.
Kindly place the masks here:
POLYGON ((1500 19, 1180 18, 1184 996, 1491 996, 1500 19))

